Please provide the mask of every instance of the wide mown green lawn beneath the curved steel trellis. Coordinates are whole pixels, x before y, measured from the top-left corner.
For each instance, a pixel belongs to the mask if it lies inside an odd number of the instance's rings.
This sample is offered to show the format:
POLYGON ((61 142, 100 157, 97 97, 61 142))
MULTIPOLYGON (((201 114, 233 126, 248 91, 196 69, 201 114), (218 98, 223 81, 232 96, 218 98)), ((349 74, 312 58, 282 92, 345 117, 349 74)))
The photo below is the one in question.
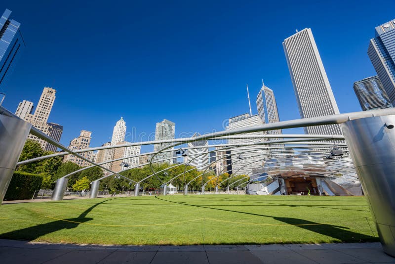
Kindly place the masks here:
POLYGON ((0 238, 131 245, 379 241, 364 197, 260 195, 5 204, 0 238))

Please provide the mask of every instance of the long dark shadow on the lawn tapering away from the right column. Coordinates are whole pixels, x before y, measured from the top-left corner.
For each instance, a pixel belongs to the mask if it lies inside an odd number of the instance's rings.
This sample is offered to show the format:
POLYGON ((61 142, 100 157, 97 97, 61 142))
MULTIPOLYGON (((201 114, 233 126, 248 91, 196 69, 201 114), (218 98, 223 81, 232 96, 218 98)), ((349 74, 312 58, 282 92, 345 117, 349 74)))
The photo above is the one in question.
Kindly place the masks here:
MULTIPOLYGON (((365 234, 349 231, 349 230, 346 230, 349 228, 344 227, 344 226, 338 226, 338 225, 332 225, 332 224, 326 224, 326 223, 321 224, 321 223, 316 223, 316 222, 312 222, 309 220, 297 219, 297 218, 272 217, 272 216, 259 215, 259 214, 247 213, 247 212, 240 212, 240 211, 234 211, 234 210, 228 210, 228 209, 212 208, 212 207, 201 206, 201 205, 191 205, 191 204, 186 204, 185 202, 174 202, 174 201, 165 200, 165 199, 159 198, 158 196, 155 196, 155 198, 162 200, 162 201, 167 201, 170 203, 182 204, 184 206, 193 206, 193 207, 199 207, 199 208, 213 209, 213 210, 226 211, 226 212, 232 212, 232 213, 240 213, 240 214, 246 214, 246 215, 252 215, 252 216, 260 216, 260 217, 265 217, 265 218, 272 218, 274 220, 278 220, 283 223, 295 225, 297 227, 300 227, 300 228, 303 228, 303 229, 306 229, 306 230, 309 230, 312 232, 316 232, 321 235, 332 237, 335 240, 338 240, 341 242, 373 242, 373 241, 377 242, 378 241, 378 238, 375 236, 370 236, 370 235, 365 235, 365 234)), ((305 241, 306 241, 306 243, 308 243, 309 238, 307 237, 305 241)))

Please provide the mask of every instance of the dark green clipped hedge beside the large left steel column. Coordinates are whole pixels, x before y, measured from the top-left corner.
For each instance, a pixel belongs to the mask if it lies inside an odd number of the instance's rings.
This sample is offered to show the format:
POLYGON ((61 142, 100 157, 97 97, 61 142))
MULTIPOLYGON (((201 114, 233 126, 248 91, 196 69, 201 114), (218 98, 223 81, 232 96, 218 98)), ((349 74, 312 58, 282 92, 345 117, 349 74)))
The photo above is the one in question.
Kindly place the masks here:
POLYGON ((4 200, 31 199, 40 190, 42 175, 15 171, 9 183, 4 200))

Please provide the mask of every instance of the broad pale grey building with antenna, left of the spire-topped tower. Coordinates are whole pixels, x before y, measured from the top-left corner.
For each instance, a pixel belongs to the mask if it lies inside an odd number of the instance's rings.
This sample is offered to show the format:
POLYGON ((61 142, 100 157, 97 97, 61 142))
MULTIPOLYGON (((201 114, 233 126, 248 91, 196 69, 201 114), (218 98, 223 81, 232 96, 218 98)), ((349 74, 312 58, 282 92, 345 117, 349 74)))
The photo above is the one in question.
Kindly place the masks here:
MULTIPOLYGON (((229 119, 228 130, 253 127, 262 125, 262 120, 258 115, 250 116, 249 114, 243 114, 229 119)), ((262 135, 263 132, 252 132, 245 133, 246 135, 262 135)), ((240 139, 229 139, 229 144, 241 144, 241 143, 256 143, 261 142, 260 138, 240 138, 240 139)), ((255 147, 255 146, 254 146, 255 147)), ((263 159, 266 155, 262 151, 253 151, 254 147, 241 147, 247 150, 231 150, 232 153, 232 171, 238 175, 247 175, 253 168, 261 167, 263 159), (248 150, 251 148, 251 151, 248 150), (246 153, 242 153, 248 151, 246 153)), ((263 147, 263 145, 262 145, 263 147)))

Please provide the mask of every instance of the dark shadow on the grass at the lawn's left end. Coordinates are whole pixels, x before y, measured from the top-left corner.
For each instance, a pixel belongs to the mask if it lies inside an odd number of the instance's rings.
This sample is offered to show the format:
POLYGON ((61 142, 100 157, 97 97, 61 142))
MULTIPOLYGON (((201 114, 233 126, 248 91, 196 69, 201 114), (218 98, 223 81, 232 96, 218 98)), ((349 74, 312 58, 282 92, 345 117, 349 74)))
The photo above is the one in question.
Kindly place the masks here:
MULTIPOLYGON (((117 198, 113 198, 113 199, 117 199, 117 198)), ((109 200, 113 200, 113 199, 109 199, 109 200)), ((2 234, 0 234, 0 238, 32 241, 32 240, 35 240, 35 239, 37 239, 41 236, 44 236, 46 234, 50 234, 50 233, 53 233, 53 232, 56 232, 56 231, 59 231, 62 229, 76 228, 79 225, 79 223, 84 223, 84 222, 93 220, 93 218, 87 218, 86 215, 90 211, 92 211, 93 208, 98 206, 99 204, 102 204, 102 203, 109 201, 109 200, 105 200, 100 203, 96 203, 96 204, 92 205, 91 207, 86 209, 84 212, 82 212, 79 215, 79 217, 77 217, 77 218, 56 220, 56 221, 52 221, 52 222, 42 223, 42 224, 38 224, 35 226, 14 230, 14 231, 7 232, 7 233, 2 233, 2 234)), ((48 218, 48 219, 50 219, 50 218, 48 218)))

